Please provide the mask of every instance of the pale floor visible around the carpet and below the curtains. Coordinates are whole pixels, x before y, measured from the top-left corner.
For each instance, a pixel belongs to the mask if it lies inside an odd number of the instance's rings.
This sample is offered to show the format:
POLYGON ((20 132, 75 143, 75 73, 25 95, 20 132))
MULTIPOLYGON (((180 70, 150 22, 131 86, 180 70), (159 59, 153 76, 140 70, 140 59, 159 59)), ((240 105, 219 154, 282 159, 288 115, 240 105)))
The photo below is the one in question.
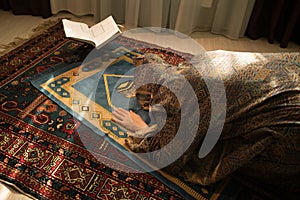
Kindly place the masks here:
MULTIPOLYGON (((20 45, 26 39, 38 34, 41 24, 49 24, 49 20, 59 18, 70 18, 74 21, 85 22, 93 25, 93 16, 74 16, 70 13, 58 13, 48 19, 29 15, 13 15, 11 12, 0 10, 0 56, 6 51, 20 45)), ((125 29, 126 30, 126 27, 125 29)), ((249 52, 283 52, 300 51, 300 46, 289 43, 288 48, 280 48, 278 43, 269 44, 266 39, 250 40, 247 37, 238 40, 232 40, 221 35, 211 34, 209 32, 193 33, 191 37, 197 41, 206 51, 211 50, 231 50, 231 51, 249 51, 249 52)), ((20 194, 13 187, 0 183, 0 199, 3 200, 28 200, 30 197, 20 194)))

